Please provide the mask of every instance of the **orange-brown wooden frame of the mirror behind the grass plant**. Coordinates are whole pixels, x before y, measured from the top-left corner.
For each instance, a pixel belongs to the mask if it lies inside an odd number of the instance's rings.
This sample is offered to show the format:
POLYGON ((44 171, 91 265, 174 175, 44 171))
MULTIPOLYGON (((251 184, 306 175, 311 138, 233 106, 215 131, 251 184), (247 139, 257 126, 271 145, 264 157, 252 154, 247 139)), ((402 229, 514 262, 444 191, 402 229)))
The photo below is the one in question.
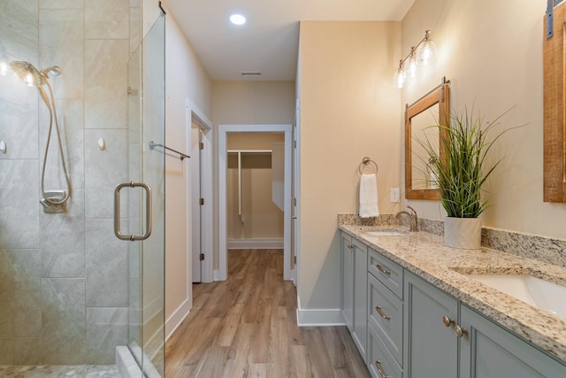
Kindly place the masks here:
MULTIPOLYGON (((417 114, 430 109, 435 104, 439 105, 439 123, 447 125, 450 114, 450 81, 446 77, 442 78, 440 85, 426 95, 419 98, 413 104, 405 105, 405 198, 406 199, 422 199, 422 200, 440 200, 440 189, 412 189, 412 142, 413 135, 411 133, 411 119, 417 114)), ((444 131, 446 135, 446 131, 444 131)), ((442 140, 446 140, 446 136, 439 134, 439 152, 440 158, 444 158, 444 145, 442 140)))

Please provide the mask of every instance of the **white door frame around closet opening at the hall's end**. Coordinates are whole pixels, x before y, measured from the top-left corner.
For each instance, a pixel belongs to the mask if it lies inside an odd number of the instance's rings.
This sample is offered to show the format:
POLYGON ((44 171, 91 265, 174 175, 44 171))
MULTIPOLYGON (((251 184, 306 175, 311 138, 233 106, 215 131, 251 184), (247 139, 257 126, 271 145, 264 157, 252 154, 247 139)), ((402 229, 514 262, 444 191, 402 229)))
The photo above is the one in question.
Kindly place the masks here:
POLYGON ((218 125, 218 274, 216 281, 228 278, 228 260, 226 243, 226 172, 227 172, 227 134, 228 133, 283 133, 285 135, 285 182, 283 196, 283 279, 293 280, 291 269, 291 153, 292 125, 218 125))

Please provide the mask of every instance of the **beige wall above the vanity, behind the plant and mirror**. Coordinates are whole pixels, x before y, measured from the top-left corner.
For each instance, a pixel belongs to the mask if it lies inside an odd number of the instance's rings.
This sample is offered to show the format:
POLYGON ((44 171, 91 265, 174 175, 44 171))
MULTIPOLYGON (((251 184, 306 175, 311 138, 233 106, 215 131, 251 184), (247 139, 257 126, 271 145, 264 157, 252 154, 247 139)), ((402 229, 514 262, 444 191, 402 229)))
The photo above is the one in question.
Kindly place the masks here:
MULTIPOLYGON (((503 128, 528 123, 505 135, 493 158, 504 157, 489 182, 487 227, 564 238, 566 204, 542 201, 543 0, 417 0, 402 22, 402 52, 432 30, 440 59, 413 87, 403 104, 432 89, 443 75, 452 81, 452 108, 475 104, 493 118, 510 107, 503 128)), ((401 125, 400 125, 401 127, 401 125)), ((420 215, 441 219, 436 201, 411 201, 420 215)))

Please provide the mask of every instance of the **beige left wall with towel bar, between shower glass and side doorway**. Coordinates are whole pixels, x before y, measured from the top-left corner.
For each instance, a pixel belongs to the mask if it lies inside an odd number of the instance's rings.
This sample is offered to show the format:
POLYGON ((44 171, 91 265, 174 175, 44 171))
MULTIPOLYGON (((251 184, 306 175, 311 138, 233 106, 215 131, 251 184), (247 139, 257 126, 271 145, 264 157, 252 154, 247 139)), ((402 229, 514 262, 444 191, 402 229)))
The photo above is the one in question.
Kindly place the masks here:
MULTIPOLYGON (((190 120, 186 119, 186 99, 190 99, 204 114, 210 114, 211 82, 171 13, 167 14, 165 32, 165 143, 172 149, 187 151, 190 120)), ((176 312, 179 315, 187 312, 192 306, 190 284, 187 287, 187 282, 192 282, 190 255, 187 254, 190 235, 190 225, 187 224, 187 214, 190 214, 187 175, 190 177, 191 174, 188 166, 187 160, 180 161, 171 156, 165 160, 166 320, 176 312)))

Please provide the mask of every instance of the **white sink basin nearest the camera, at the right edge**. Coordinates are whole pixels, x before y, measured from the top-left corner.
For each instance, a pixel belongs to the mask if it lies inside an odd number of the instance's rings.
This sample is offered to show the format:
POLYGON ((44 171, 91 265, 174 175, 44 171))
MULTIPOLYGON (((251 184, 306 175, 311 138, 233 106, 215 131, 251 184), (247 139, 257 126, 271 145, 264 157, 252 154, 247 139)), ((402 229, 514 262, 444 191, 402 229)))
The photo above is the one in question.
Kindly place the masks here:
POLYGON ((468 274, 468 277, 566 319, 566 287, 532 275, 468 274))

